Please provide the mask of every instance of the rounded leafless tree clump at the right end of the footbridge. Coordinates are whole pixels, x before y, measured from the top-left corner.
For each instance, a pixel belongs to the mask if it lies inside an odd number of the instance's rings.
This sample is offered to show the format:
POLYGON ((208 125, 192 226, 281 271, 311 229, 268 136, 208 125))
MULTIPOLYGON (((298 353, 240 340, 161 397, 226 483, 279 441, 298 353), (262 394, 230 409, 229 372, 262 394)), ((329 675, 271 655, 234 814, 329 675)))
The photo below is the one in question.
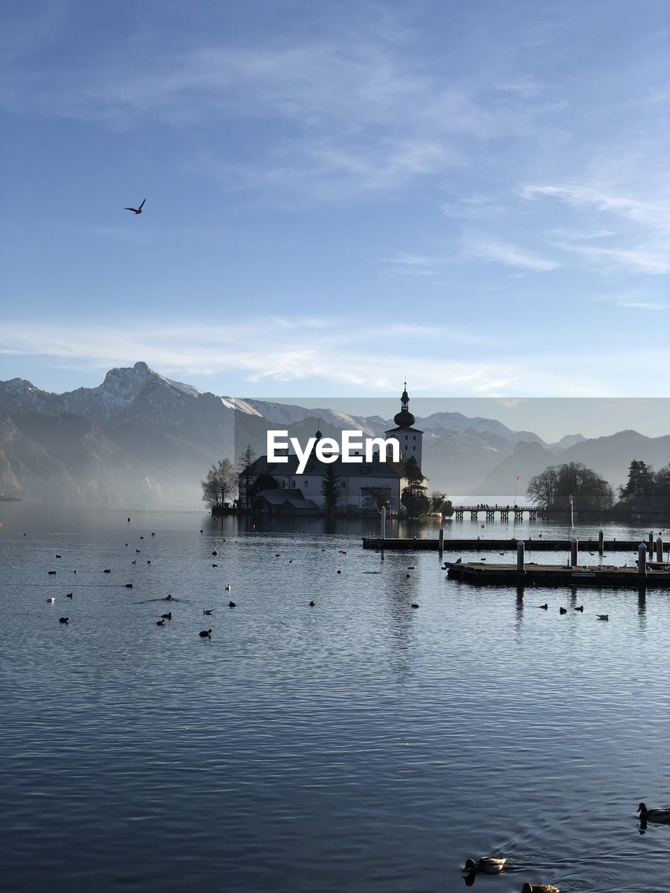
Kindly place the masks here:
POLYGON ((582 462, 549 465, 528 482, 526 495, 542 508, 566 509, 570 497, 579 508, 601 510, 614 505, 614 490, 582 462))

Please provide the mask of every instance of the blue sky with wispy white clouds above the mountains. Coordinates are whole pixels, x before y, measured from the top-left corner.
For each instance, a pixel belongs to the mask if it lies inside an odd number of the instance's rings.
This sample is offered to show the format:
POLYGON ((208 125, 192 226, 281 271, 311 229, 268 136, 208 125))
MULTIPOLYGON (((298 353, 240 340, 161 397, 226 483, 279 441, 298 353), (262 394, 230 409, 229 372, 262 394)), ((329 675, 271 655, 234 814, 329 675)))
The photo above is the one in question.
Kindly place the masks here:
POLYGON ((665 2, 2 15, 0 379, 666 394, 665 2))

